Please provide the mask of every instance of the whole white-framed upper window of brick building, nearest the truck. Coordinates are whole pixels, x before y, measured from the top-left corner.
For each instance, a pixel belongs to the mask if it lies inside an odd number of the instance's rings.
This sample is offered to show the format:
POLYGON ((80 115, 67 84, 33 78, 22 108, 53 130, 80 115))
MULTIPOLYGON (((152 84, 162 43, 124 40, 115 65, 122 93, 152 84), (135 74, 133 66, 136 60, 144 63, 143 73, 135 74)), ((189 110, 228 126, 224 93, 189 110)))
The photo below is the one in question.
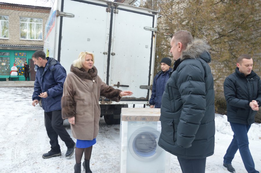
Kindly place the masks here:
POLYGON ((42 40, 43 19, 20 17, 20 39, 42 40))

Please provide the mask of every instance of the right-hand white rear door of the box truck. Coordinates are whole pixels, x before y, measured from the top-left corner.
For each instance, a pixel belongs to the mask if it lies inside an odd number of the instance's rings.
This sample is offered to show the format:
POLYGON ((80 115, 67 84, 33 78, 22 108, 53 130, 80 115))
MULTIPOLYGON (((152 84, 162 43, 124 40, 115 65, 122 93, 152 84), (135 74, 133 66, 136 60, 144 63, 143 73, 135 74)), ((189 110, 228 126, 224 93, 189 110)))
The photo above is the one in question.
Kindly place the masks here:
MULTIPOLYGON (((109 85, 122 91, 132 91, 135 101, 148 101, 151 61, 154 61, 153 32, 144 27, 154 27, 153 14, 146 14, 128 8, 114 9, 112 25, 112 46, 110 54, 109 85), (115 10, 118 10, 115 13, 115 10)), ((133 100, 126 97, 124 100, 133 100)))

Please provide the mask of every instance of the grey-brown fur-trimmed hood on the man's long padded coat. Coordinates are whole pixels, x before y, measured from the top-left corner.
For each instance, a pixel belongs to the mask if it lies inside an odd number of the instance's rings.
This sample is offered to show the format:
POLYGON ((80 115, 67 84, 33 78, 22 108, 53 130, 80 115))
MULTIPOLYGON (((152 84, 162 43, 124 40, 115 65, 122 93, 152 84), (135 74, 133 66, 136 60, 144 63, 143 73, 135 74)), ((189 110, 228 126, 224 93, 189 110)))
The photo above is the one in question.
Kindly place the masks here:
POLYGON ((187 48, 182 51, 180 60, 185 60, 187 58, 202 58, 206 62, 211 62, 211 56, 208 51, 210 46, 202 39, 194 39, 192 43, 187 45, 187 48), (206 52, 206 53, 204 53, 206 52))

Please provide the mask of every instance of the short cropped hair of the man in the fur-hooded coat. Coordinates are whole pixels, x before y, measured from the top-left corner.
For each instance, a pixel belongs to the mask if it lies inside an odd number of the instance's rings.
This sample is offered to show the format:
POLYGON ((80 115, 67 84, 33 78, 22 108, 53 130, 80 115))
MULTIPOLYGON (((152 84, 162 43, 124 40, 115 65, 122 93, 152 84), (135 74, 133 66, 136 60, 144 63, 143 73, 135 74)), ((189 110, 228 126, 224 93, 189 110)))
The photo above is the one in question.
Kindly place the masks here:
POLYGON ((190 32, 185 30, 180 30, 174 33, 173 37, 175 37, 176 44, 178 42, 182 43, 182 50, 187 48, 187 45, 193 41, 193 37, 190 32))

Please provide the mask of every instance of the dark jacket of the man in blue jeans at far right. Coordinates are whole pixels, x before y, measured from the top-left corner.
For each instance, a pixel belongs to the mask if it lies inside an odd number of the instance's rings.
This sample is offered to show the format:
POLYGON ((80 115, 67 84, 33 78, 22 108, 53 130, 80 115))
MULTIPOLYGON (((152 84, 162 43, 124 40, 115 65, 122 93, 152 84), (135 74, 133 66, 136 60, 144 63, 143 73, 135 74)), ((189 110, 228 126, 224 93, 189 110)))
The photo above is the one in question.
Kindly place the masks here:
POLYGON ((229 122, 239 124, 253 124, 255 122, 257 111, 253 111, 249 103, 252 100, 261 102, 261 81, 254 71, 245 76, 240 73, 237 67, 235 73, 225 79, 224 95, 229 122))

